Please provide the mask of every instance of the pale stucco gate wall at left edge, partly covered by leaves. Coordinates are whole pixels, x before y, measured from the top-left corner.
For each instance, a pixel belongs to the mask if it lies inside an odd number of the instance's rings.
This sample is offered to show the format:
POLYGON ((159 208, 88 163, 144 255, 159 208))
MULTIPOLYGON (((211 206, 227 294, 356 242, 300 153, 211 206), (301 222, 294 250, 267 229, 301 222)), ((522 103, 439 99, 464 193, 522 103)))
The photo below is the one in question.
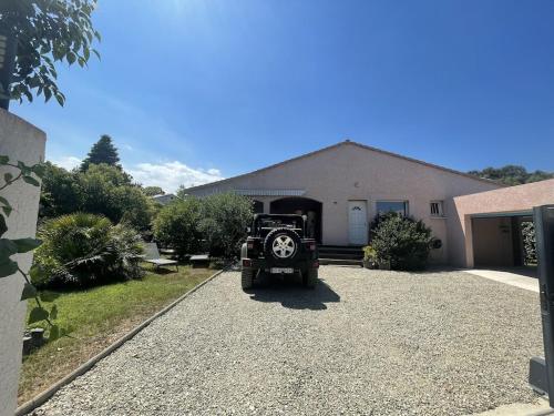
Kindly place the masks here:
MULTIPOLYGON (((42 131, 0 109, 0 154, 31 165, 44 160, 44 144, 42 131)), ((3 177, 7 171, 0 168, 0 175, 3 177)), ((14 209, 8 219, 7 236, 34 236, 40 190, 20 181, 0 191, 0 195, 14 209)), ((19 255, 17 260, 28 271, 32 255, 19 255)), ((22 288, 20 275, 0 278, 0 416, 12 416, 17 405, 25 314, 25 302, 19 301, 22 288)))

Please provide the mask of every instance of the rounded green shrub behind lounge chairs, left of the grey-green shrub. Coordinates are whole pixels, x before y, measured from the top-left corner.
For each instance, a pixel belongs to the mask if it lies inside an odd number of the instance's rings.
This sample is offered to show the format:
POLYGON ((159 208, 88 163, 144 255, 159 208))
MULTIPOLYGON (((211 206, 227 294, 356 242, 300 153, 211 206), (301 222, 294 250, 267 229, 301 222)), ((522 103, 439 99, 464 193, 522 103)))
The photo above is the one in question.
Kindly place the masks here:
POLYGON ((178 256, 194 254, 201 247, 198 231, 201 202, 194 197, 177 200, 162 207, 154 220, 154 239, 172 247, 178 256))

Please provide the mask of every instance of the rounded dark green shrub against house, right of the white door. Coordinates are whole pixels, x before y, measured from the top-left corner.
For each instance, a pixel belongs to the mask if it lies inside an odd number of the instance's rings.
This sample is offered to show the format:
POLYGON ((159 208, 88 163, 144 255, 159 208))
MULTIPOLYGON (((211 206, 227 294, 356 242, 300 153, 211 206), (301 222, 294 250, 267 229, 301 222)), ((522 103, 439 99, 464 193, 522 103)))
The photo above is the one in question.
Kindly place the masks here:
POLYGON ((371 225, 371 246, 377 263, 392 270, 421 270, 427 265, 432 243, 431 230, 423 222, 389 212, 371 225))

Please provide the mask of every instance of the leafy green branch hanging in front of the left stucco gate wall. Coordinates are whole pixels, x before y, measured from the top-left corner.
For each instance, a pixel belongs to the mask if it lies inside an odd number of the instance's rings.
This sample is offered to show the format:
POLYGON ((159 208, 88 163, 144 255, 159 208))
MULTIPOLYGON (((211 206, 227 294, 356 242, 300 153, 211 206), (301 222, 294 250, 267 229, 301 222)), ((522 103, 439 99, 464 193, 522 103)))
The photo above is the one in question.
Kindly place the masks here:
MULTIPOLYGON (((39 180, 44 174, 44 166, 35 164, 28 166, 23 162, 12 163, 6 155, 0 155, 0 166, 11 168, 12 171, 18 173, 6 172, 3 174, 3 183, 0 181, 0 191, 10 186, 14 182, 21 180, 32 186, 40 186, 39 180)), ((21 301, 34 298, 37 306, 31 311, 29 324, 45 321, 50 328, 50 339, 54 339, 62 335, 62 331, 52 323, 55 319, 58 310, 55 306, 51 311, 47 311, 38 296, 37 288, 31 284, 31 281, 25 272, 21 270, 18 262, 12 258, 16 254, 28 253, 41 245, 41 241, 37 239, 7 239, 4 234, 8 232, 7 219, 13 212, 13 207, 7 197, 0 196, 0 278, 11 276, 20 273, 24 281, 23 292, 21 293, 21 301)), ((37 271, 32 271, 37 273, 37 271)))

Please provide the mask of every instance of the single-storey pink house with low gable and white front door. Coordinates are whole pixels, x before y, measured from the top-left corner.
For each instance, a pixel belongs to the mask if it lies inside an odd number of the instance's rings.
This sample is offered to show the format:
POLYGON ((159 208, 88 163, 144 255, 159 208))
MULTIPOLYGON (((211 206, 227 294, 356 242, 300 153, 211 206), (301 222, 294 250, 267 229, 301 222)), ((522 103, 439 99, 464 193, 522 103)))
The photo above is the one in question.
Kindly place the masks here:
POLYGON ((423 220, 442 241, 442 246, 432 251, 434 263, 468 265, 454 199, 501 187, 347 140, 250 173, 189 187, 186 193, 205 196, 232 191, 250 196, 259 213, 305 214, 309 232, 324 245, 365 245, 369 225, 379 212, 401 212, 423 220))

